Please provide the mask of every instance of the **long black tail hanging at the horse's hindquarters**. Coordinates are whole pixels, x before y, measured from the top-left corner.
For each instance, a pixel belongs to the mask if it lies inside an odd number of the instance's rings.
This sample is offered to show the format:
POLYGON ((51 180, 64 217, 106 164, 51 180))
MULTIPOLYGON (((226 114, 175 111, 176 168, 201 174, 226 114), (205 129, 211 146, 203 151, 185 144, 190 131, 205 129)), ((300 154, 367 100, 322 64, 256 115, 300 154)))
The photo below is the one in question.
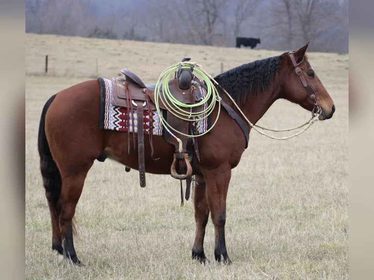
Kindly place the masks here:
POLYGON ((61 193, 61 174, 60 171, 52 158, 51 151, 49 149, 48 141, 45 136, 45 114, 56 95, 50 97, 45 103, 42 116, 39 123, 39 135, 38 135, 38 151, 40 156, 40 170, 42 172, 43 185, 45 188, 45 196, 47 197, 49 208, 51 211, 57 211, 57 200, 61 193))

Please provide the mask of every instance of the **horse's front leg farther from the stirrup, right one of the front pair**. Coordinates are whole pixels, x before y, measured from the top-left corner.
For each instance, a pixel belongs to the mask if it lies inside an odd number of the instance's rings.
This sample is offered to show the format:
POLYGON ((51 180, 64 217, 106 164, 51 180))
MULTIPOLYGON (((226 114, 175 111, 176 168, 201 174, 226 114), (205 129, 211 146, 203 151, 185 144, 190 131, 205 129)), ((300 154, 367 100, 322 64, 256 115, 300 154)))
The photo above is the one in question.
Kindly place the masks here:
POLYGON ((220 168, 204 172, 207 183, 207 199, 211 219, 214 225, 215 246, 214 257, 218 261, 231 263, 226 249, 226 198, 231 178, 231 168, 220 168))

